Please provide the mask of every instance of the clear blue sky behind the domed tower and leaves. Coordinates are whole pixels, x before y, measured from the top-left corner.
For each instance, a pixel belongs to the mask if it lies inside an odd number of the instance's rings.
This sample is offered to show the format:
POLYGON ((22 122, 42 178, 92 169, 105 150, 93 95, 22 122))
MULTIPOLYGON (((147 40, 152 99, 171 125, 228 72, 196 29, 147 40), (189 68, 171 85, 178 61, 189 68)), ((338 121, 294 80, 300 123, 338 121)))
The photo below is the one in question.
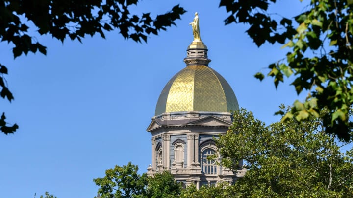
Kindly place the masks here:
MULTIPOLYGON (((158 96, 185 67, 186 48, 193 40, 194 13, 200 17, 201 38, 208 46, 209 64, 233 88, 240 107, 267 124, 281 103, 297 96, 288 83, 274 87, 271 78, 260 83, 253 75, 284 57, 288 49, 261 48, 245 33, 243 24, 224 25, 227 13, 219 1, 144 0, 133 13, 164 13, 180 3, 188 12, 176 26, 151 35, 147 44, 124 40, 117 31, 86 38, 83 44, 61 44, 36 35, 48 54, 13 59, 12 45, 0 43, 0 63, 15 100, 0 100, 8 122, 18 132, 0 134, 0 197, 33 198, 49 191, 58 198, 92 198, 93 178, 115 164, 131 161, 140 173, 151 164, 151 134, 146 128, 158 96)), ((299 0, 281 0, 274 12, 291 17, 303 11, 299 0)), ((35 30, 35 29, 34 29, 35 30)))

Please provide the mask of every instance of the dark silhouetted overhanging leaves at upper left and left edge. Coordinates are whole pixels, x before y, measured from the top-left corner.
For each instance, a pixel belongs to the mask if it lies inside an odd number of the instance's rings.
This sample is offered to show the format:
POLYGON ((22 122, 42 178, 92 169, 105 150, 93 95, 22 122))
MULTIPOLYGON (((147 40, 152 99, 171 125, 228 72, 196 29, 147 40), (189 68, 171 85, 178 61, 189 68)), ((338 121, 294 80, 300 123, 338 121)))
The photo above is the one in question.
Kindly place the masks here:
MULTIPOLYGON (((137 5, 138 0, 0 0, 0 39, 14 45, 14 58, 28 52, 47 53, 47 48, 28 34, 29 26, 37 28, 40 35, 51 35, 64 42, 81 40, 104 31, 118 29, 125 39, 147 42, 147 35, 158 35, 158 31, 175 25, 175 20, 185 10, 179 5, 171 11, 151 18, 150 13, 131 15, 129 6, 137 5)), ((8 89, 4 75, 7 67, 0 63, 0 96, 10 102, 14 99, 8 89)), ((8 134, 18 129, 18 125, 8 125, 4 113, 0 118, 1 132, 8 134)))

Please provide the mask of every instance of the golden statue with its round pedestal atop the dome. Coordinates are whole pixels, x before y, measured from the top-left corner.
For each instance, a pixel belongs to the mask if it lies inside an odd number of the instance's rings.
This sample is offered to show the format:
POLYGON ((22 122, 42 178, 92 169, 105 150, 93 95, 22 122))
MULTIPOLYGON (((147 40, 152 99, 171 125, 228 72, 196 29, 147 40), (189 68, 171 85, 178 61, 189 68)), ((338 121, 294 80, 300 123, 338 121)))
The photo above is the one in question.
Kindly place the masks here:
POLYGON ((199 27, 199 14, 195 13, 195 18, 193 22, 190 22, 189 25, 192 25, 194 41, 187 48, 187 56, 184 59, 184 62, 187 66, 191 65, 203 65, 208 66, 208 63, 211 62, 211 59, 207 57, 207 46, 203 44, 200 37, 200 27, 199 27))

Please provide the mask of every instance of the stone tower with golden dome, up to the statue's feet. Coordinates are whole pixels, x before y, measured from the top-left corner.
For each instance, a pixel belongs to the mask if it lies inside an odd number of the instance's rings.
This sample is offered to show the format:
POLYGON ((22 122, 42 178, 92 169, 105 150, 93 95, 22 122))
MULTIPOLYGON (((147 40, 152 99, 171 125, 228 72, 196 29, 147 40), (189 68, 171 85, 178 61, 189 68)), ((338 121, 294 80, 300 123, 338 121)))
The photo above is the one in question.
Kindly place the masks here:
MULTIPOLYGON (((207 160, 217 151, 213 137, 232 125, 230 110, 239 110, 227 81, 208 66, 207 47, 195 39, 187 48, 186 67, 163 88, 147 131, 152 135, 148 175, 165 170, 185 185, 234 182, 245 170, 229 170, 207 160)), ((240 162, 242 164, 242 161, 240 162)))

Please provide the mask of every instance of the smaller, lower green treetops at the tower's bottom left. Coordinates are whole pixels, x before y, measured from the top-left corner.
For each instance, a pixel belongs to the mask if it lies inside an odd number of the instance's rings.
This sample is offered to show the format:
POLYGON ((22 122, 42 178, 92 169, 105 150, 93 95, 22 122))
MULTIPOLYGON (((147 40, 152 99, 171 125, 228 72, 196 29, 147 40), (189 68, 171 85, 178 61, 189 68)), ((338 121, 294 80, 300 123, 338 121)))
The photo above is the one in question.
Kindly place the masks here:
POLYGON ((93 179, 99 186, 98 194, 101 198, 172 198, 180 194, 181 185, 170 172, 148 177, 146 173, 137 174, 137 171, 138 166, 131 162, 106 170, 106 176, 93 179))

